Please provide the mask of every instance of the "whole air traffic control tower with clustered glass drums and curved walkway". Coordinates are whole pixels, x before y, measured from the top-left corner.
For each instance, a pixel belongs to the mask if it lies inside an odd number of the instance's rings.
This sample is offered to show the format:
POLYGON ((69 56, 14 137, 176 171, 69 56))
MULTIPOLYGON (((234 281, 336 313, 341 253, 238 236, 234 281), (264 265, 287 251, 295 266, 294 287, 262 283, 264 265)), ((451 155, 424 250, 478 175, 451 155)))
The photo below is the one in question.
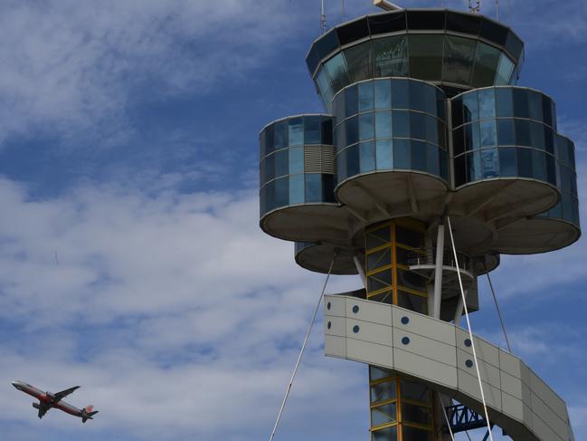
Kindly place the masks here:
POLYGON ((325 351, 368 366, 374 441, 494 425, 573 440, 563 399, 459 326, 500 254, 581 235, 573 141, 551 97, 515 85, 523 60, 518 36, 478 14, 366 15, 310 46, 325 113, 260 132, 262 230, 295 242, 302 267, 365 283, 325 296, 325 351))

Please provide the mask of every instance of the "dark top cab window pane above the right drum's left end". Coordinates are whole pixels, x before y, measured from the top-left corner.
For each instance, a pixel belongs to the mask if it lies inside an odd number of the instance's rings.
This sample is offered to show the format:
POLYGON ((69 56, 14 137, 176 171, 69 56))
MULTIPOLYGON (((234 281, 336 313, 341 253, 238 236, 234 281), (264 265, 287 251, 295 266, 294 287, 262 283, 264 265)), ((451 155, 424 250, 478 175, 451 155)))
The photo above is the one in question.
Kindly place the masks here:
POLYGON ((447 35, 444 40, 443 81, 469 84, 475 45, 475 40, 447 35))

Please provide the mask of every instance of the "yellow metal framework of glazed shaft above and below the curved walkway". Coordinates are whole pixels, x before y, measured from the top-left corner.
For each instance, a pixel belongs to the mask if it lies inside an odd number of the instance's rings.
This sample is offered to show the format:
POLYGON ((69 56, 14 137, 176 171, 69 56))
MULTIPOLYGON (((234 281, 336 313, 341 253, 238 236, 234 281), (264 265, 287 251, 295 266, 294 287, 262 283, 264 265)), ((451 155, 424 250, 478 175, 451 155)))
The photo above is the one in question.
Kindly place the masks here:
MULTIPOLYGON (((425 231, 425 225, 420 221, 407 218, 394 219, 365 230, 367 299, 400 306, 410 302, 420 305, 420 309, 413 308, 417 312, 428 312, 425 283, 422 283, 421 289, 400 283, 400 280, 406 280, 406 275, 418 280, 418 275, 410 272, 406 256, 425 254, 425 231), (398 271, 402 272, 401 279, 398 279, 398 271)), ((426 436, 427 433, 427 437, 432 439, 434 418, 429 389, 393 375, 387 369, 370 366, 369 397, 373 441, 409 441, 404 431, 411 430, 423 431, 419 435, 426 436), (409 385, 423 390, 422 399, 414 399, 403 390, 409 385)))

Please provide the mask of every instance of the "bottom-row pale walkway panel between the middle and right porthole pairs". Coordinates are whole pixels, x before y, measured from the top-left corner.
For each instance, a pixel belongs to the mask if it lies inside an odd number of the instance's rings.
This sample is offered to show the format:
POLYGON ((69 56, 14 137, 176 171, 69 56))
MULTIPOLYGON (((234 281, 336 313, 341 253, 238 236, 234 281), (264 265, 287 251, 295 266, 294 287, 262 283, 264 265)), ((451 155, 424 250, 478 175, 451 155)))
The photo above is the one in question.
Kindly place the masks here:
POLYGON ((394 368, 405 374, 457 388, 457 370, 453 366, 398 348, 393 349, 393 361, 394 368))

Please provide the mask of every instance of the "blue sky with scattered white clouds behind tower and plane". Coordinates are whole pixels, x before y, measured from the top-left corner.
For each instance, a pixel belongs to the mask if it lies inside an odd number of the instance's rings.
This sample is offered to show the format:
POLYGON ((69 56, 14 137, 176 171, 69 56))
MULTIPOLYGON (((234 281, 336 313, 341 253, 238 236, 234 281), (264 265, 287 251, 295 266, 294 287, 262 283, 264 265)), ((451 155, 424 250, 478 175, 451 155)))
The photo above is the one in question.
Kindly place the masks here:
MULTIPOLYGON (((341 3, 326 3, 340 23, 341 3)), ((520 84, 554 98, 576 142, 585 219, 586 5, 500 3, 526 43, 520 84)), ((346 0, 347 17, 369 4, 346 0)), ((270 120, 321 111, 304 62, 319 2, 5 0, 0 11, 2 439, 269 436, 323 278, 260 232, 257 138, 270 120), (80 384, 71 403, 100 413, 39 421, 14 379, 80 384)), ((577 439, 586 248, 504 257, 492 273, 516 354, 567 400, 577 439)), ((359 284, 336 277, 328 291, 359 284)), ((503 343, 480 290, 474 331, 503 343)), ((324 358, 321 342, 318 325, 276 439, 368 436, 365 367, 324 358)))

